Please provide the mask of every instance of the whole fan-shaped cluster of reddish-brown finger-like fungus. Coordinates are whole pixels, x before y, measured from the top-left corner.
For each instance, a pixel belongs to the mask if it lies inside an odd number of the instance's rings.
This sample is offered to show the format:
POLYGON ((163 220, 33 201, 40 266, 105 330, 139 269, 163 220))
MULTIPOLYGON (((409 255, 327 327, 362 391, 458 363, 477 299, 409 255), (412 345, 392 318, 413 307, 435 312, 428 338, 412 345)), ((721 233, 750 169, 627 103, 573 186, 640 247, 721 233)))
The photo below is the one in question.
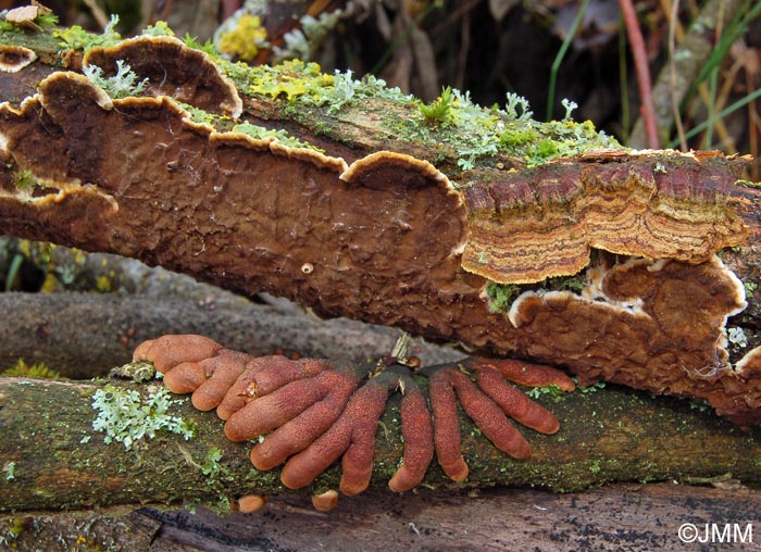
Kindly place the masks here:
POLYGON ((258 469, 285 463, 280 478, 286 487, 311 484, 342 456, 340 490, 346 494, 362 492, 370 484, 375 434, 390 393, 402 394, 404 453, 389 487, 403 492, 423 480, 434 451, 449 477, 467 476, 460 454, 458 402, 498 449, 525 459, 531 448, 506 414, 545 434, 558 430, 558 419, 504 377, 573 389, 571 379, 558 371, 512 361, 473 357, 459 365, 431 366, 421 373, 431 376, 434 424, 425 396, 409 368, 399 364, 335 366, 279 355, 251 357, 199 336, 147 341, 136 349, 135 360, 153 362, 172 391, 194 393, 197 407, 216 406, 230 440, 266 436, 251 450, 251 462, 258 469), (477 374, 477 385, 465 369, 477 374))

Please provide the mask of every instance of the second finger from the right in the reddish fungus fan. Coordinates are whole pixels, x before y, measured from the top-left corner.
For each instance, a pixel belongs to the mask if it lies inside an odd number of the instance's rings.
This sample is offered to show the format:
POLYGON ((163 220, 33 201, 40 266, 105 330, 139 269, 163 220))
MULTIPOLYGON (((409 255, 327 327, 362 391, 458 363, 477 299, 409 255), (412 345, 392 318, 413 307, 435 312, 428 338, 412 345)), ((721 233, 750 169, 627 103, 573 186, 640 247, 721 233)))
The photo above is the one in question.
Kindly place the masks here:
POLYGON ((502 374, 497 369, 490 366, 479 369, 476 373, 476 381, 509 417, 542 434, 554 434, 560 429, 560 422, 554 414, 504 381, 502 374))

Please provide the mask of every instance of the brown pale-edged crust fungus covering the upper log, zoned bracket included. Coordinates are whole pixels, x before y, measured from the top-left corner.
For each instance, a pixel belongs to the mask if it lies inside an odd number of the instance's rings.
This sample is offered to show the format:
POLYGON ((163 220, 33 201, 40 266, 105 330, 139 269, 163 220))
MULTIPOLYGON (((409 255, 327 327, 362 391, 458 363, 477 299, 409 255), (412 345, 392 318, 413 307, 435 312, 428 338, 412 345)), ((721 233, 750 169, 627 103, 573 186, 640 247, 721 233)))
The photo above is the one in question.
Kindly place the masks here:
POLYGON ((733 368, 725 350, 745 291, 714 256, 745 235, 727 206, 743 160, 616 150, 445 175, 400 152, 322 153, 199 120, 194 110, 236 115, 237 103, 185 93, 171 71, 213 65, 185 50, 135 39, 86 57, 107 73, 125 60, 154 97, 112 99, 58 72, 0 105, 0 231, 761 421, 758 352, 733 368), (177 60, 165 78, 153 53, 177 60), (18 189, 22 171, 38 185, 18 189), (573 291, 526 285, 571 275, 573 291), (501 305, 498 284, 514 286, 501 305))

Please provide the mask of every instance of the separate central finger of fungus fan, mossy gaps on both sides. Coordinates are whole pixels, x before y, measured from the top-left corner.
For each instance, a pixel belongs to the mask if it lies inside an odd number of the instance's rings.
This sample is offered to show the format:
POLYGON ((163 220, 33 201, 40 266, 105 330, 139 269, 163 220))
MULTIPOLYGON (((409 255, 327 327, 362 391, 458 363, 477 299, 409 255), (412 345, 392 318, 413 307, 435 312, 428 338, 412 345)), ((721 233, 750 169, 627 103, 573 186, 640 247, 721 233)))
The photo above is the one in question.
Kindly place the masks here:
POLYGON ((434 426, 428 404, 412 378, 404 378, 401 400, 401 435, 404 438, 402 465, 388 481, 394 492, 417 487, 434 457, 434 426))

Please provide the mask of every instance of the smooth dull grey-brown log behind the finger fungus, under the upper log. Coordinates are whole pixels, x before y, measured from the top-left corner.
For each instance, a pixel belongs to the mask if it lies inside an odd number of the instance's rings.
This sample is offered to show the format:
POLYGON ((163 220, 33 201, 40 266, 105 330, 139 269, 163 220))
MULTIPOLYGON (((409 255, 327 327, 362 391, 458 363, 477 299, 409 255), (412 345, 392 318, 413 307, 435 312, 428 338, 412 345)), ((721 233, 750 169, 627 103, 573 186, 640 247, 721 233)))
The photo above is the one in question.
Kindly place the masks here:
MULTIPOLYGON (((62 376, 88 379, 132 360, 140 342, 166 334, 199 334, 254 356, 292 351, 303 356, 361 362, 388 354, 399 331, 346 318, 320 321, 310 314, 239 298, 207 294, 202 301, 172 297, 98 293, 0 293, 0 372, 18 359, 43 363, 62 376)), ((410 353, 425 364, 465 353, 414 339, 410 353)))

